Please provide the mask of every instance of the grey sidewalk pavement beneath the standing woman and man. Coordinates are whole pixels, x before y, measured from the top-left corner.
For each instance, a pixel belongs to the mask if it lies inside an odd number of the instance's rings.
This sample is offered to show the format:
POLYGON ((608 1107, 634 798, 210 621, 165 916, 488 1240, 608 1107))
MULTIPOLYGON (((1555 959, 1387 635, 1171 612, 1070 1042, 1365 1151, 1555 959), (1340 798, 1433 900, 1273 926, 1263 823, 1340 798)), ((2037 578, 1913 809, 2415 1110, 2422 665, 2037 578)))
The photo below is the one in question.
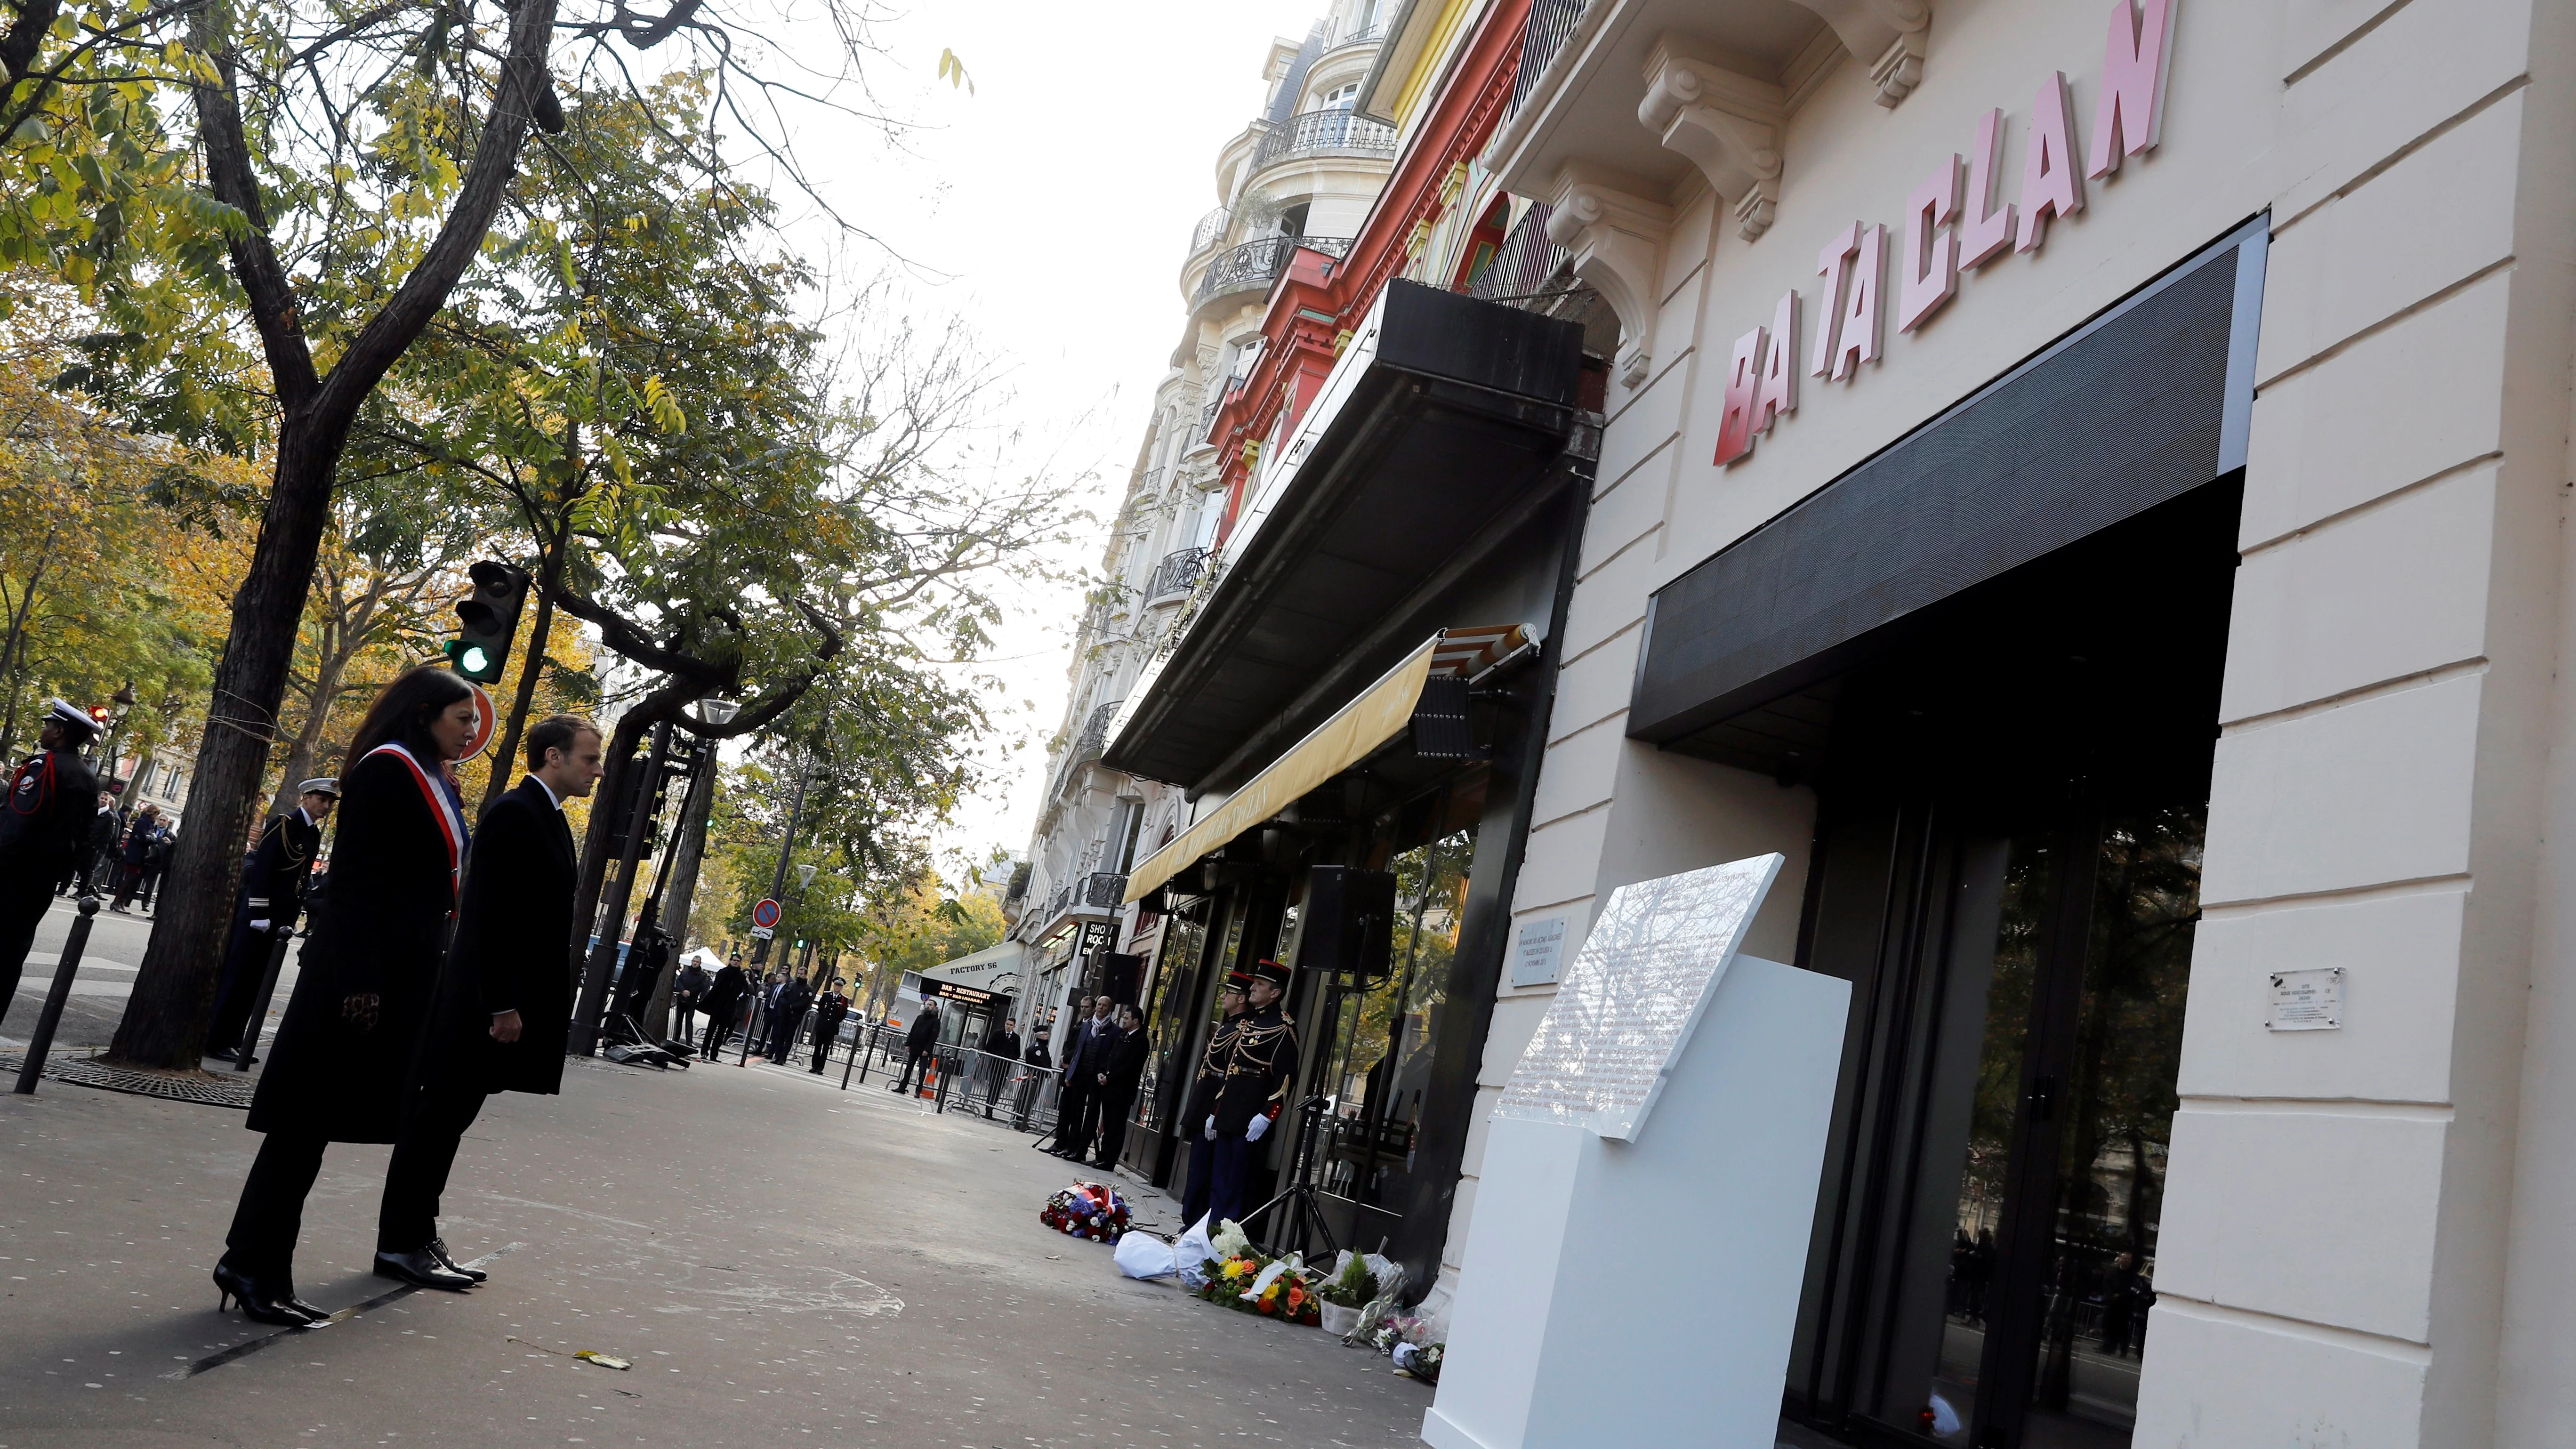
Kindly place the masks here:
MULTIPOLYGON (((240 1111, 44 1083, 0 1096, 0 1449, 1376 1449, 1430 1405, 1319 1330, 1118 1276, 1038 1225, 1072 1168, 837 1073, 572 1062, 559 1098, 492 1098, 446 1196, 492 1281, 312 1333, 214 1310, 240 1111)), ((366 1271, 384 1160, 325 1160, 299 1256, 322 1307, 397 1287, 366 1271)))

